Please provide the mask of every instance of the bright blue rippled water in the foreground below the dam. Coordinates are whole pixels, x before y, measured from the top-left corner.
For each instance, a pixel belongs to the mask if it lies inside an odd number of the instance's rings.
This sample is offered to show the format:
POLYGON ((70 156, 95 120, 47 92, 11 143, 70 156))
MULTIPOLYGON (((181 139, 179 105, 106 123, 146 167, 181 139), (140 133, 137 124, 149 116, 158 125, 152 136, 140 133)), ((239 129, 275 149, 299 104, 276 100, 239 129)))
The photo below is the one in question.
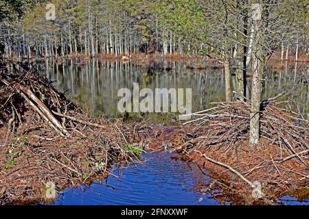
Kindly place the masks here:
MULTIPOLYGON (((195 164, 170 159, 169 153, 144 154, 144 162, 115 170, 107 180, 67 189, 55 205, 220 205, 197 185, 209 178, 195 164)), ((227 203, 228 204, 228 203, 227 203)))

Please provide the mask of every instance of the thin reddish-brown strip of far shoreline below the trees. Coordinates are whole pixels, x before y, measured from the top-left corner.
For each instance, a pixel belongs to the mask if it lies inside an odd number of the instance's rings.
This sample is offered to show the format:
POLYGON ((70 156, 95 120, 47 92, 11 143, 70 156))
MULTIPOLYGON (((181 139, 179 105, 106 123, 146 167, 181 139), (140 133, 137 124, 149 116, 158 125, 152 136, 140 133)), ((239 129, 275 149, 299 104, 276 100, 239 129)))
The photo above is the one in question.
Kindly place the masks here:
MULTIPOLYGON (((85 65, 90 60, 98 60, 102 62, 122 62, 133 63, 143 68, 159 68, 164 70, 171 70, 170 64, 168 62, 183 62, 185 68, 191 70, 204 70, 207 68, 224 68, 222 57, 201 57, 192 55, 179 55, 179 54, 123 54, 123 55, 113 55, 113 54, 98 54, 95 56, 85 55, 82 53, 64 55, 64 56, 47 56, 47 57, 6 57, 7 62, 22 62, 23 60, 30 63, 42 63, 46 60, 53 60, 58 64, 62 64, 64 60, 74 61, 74 65, 85 65), (160 66, 161 65, 161 66, 160 66)), ((288 55, 281 60, 278 53, 274 53, 266 60, 267 66, 273 69, 284 69, 287 66, 295 66, 297 63, 297 68, 307 68, 309 62, 309 56, 306 54, 299 54, 298 60, 295 60, 295 55, 288 55)), ((233 62, 230 64, 231 69, 236 69, 233 62)), ((249 70, 249 75, 250 75, 249 70)))

